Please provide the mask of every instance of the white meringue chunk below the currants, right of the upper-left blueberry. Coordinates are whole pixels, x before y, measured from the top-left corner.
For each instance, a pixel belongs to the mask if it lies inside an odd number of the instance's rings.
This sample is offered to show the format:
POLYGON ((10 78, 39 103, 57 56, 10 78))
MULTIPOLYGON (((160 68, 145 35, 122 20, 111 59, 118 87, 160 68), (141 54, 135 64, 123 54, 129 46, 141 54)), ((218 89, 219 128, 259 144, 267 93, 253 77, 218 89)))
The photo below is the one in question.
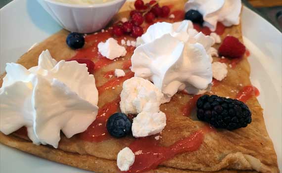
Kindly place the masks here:
POLYGON ((120 46, 113 38, 109 38, 105 43, 100 42, 98 44, 98 51, 101 55, 111 60, 125 56, 127 53, 126 49, 123 46, 120 46))

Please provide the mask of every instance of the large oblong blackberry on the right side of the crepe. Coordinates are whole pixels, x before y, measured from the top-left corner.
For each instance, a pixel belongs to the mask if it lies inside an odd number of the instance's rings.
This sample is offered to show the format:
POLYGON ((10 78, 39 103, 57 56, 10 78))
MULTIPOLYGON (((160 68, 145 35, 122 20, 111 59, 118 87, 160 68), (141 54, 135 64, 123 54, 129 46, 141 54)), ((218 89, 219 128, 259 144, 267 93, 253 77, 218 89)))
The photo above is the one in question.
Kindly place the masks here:
POLYGON ((245 128, 252 122, 247 105, 217 95, 203 95, 197 100, 197 117, 215 128, 227 130, 245 128))

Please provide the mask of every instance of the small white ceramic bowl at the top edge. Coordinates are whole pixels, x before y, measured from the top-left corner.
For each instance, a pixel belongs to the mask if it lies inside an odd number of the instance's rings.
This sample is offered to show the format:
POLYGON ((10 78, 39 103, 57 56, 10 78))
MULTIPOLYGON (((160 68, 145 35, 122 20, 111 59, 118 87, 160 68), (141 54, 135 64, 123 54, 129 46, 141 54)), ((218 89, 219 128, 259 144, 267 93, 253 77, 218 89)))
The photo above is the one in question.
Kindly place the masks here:
POLYGON ((64 29, 78 33, 93 33, 104 28, 126 0, 80 5, 54 0, 38 0, 44 9, 64 29))

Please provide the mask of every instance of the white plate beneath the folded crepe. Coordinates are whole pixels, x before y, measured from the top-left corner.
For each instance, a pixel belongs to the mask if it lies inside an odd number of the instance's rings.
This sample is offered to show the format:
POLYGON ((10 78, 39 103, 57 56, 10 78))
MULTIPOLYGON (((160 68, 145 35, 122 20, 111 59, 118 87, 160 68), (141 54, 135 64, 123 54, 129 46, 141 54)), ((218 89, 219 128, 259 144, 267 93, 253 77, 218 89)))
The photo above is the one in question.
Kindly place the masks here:
MULTIPOLYGON (((0 10, 0 73, 31 45, 61 28, 36 0, 14 0, 0 10)), ((242 29, 251 56, 251 80, 258 87, 264 118, 282 170, 282 34, 244 7, 242 29)), ((90 173, 0 145, 0 173, 90 173)))

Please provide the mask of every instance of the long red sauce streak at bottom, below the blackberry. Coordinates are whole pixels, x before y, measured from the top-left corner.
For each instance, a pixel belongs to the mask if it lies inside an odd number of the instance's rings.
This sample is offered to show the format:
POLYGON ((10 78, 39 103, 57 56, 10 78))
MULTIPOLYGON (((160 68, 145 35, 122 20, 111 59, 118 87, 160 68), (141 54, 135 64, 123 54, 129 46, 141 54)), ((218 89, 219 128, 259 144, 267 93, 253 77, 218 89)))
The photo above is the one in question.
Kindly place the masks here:
POLYGON ((129 146, 136 153, 135 162, 129 171, 123 173, 141 173, 153 170, 160 163, 178 154, 196 151, 203 143, 204 135, 211 131, 213 131, 211 127, 197 130, 169 147, 158 146, 158 140, 155 140, 154 136, 138 138, 129 146))

